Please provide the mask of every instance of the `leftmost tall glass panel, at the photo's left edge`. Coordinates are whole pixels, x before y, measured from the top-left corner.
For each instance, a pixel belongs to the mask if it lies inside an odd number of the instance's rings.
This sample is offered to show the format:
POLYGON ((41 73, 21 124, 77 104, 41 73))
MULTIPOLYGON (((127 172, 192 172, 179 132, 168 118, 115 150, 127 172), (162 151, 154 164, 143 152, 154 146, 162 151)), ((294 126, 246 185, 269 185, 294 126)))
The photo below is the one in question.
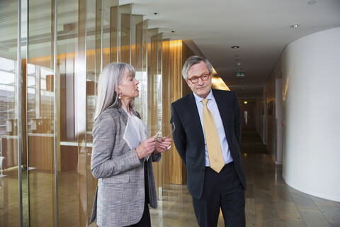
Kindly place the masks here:
MULTIPOLYGON (((18 194, 18 2, 0 3, 0 226, 20 226, 18 194), (16 218, 15 218, 16 217, 16 218)), ((20 39, 21 40, 21 39, 20 39)), ((21 41, 20 41, 21 45, 21 41)), ((20 165, 21 166, 21 165, 20 165)))

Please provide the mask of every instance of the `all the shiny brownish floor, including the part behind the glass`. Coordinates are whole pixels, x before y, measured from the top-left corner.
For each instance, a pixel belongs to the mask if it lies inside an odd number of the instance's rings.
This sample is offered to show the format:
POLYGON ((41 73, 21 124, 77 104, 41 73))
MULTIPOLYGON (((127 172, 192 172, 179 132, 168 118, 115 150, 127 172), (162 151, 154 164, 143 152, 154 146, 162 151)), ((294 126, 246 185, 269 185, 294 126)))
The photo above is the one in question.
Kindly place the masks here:
MULTIPOLYGON (((320 199, 289 187, 283 180, 281 165, 275 165, 268 154, 242 155, 248 185, 246 226, 340 226, 339 202, 320 199)), ((4 185, 0 190, 0 205, 10 206, 5 210, 0 206, 0 226, 18 226, 17 171, 15 168, 6 170, 6 177, 1 179, 4 185)), ((29 175, 30 224, 53 226, 54 175, 39 170, 30 171, 29 175)), ((83 177, 72 171, 58 175, 60 226, 86 226, 86 223, 79 223, 80 217, 86 216, 86 199, 79 194, 79 190, 86 190, 83 177)), ((95 181, 88 179, 88 196, 94 196, 95 186, 95 181)), ((150 209, 152 226, 198 226, 186 185, 170 184, 164 188, 169 189, 164 189, 159 208, 150 209)), ((89 204, 92 201, 93 198, 89 199, 89 204)), ((218 226, 224 226, 222 215, 218 226)))

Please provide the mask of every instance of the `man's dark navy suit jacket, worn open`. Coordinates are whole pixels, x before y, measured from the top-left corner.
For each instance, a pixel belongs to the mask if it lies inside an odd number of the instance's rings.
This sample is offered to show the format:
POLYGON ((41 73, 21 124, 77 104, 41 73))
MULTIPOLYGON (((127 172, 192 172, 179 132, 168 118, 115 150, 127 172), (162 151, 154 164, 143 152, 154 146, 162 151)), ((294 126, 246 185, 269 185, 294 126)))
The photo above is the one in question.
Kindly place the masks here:
MULTIPOLYGON (((234 167, 246 189, 246 177, 239 150, 241 142, 241 114, 236 94, 230 91, 212 89, 220 116, 222 118, 229 150, 234 167)), ((200 199, 205 176, 205 146, 203 128, 193 92, 171 104, 171 123, 176 130, 173 138, 179 155, 186 164, 188 190, 191 196, 200 199)))

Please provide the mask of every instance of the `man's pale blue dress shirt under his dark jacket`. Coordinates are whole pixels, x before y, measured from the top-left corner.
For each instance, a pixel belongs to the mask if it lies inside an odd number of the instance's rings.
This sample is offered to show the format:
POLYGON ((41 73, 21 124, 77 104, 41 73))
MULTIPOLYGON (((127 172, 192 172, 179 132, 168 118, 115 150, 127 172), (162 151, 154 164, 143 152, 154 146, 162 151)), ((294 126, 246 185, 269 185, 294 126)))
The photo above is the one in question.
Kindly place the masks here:
MULTIPOLYGON (((205 147, 205 166, 210 166, 208 150, 207 150, 207 142, 205 141, 205 133, 204 133, 204 126, 203 126, 203 102, 202 102, 203 98, 198 96, 195 93, 193 93, 193 96, 195 96, 198 114, 200 115, 200 124, 202 125, 202 128, 203 128, 204 147, 205 147)), ((207 107, 210 110, 214 118, 215 124, 216 124, 218 138, 220 139, 223 160, 225 161, 225 164, 228 164, 229 162, 232 162, 232 155, 230 155, 229 145, 227 142, 227 138, 225 137, 225 128, 223 128, 220 111, 218 111, 215 97, 212 95, 211 89, 210 89, 210 93, 205 99, 209 99, 207 103, 207 107)))

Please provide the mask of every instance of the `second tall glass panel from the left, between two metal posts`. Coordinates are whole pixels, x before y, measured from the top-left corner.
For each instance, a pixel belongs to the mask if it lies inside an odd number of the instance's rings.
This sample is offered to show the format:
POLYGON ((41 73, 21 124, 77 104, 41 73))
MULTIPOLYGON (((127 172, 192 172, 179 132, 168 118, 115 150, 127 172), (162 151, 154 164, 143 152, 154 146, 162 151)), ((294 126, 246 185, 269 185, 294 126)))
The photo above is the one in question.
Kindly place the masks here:
MULTIPOLYGON (((27 169, 30 226, 53 226, 55 182, 53 146, 54 70, 52 2, 28 2, 27 169), (41 12, 44 13, 41 13, 41 12)), ((23 150, 26 150, 25 148, 23 150)), ((24 191, 23 191, 24 192, 24 191)), ((24 218, 25 220, 25 218, 24 218)))

